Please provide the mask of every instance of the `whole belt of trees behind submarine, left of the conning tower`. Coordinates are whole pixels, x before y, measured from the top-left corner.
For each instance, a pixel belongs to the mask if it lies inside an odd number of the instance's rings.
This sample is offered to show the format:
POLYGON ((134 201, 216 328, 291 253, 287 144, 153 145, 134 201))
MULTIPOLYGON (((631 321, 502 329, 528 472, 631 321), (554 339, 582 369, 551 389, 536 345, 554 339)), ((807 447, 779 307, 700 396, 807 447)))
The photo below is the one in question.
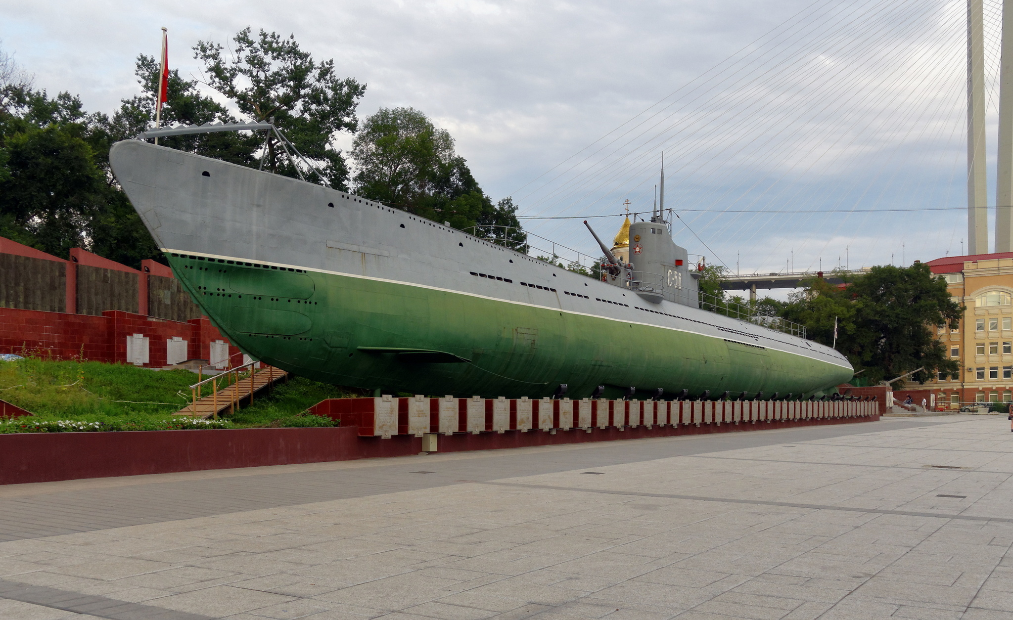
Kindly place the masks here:
MULTIPOLYGON (((172 70, 163 124, 236 121, 230 109, 254 121, 272 119, 322 168, 326 184, 346 189, 348 171, 335 137, 358 130, 356 108, 366 86, 339 78, 333 61, 315 61, 292 35, 264 30, 254 35, 247 27, 230 45, 227 51, 199 42, 193 52, 205 63, 207 84, 235 108, 172 70)), ((88 113, 70 93, 34 90, 0 49, 0 235, 63 257, 79 246, 135 267, 145 258, 164 260, 109 167, 111 146, 155 122, 157 60, 138 56, 135 73, 139 94, 124 99, 111 117, 88 113)), ((381 110, 370 121, 356 142, 357 187, 364 196, 527 250, 513 200, 492 203, 446 131, 411 108, 381 110)), ((284 149, 262 135, 173 136, 159 144, 297 174, 284 149)))

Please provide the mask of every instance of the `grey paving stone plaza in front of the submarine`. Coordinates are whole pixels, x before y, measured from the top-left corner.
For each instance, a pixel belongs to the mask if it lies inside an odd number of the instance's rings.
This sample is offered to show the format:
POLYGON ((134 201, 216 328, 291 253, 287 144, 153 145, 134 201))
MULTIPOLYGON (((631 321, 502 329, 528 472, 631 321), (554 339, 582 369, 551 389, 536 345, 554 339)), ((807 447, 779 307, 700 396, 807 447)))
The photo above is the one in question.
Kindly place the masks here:
POLYGON ((0 487, 0 618, 1013 618, 951 415, 0 487))

